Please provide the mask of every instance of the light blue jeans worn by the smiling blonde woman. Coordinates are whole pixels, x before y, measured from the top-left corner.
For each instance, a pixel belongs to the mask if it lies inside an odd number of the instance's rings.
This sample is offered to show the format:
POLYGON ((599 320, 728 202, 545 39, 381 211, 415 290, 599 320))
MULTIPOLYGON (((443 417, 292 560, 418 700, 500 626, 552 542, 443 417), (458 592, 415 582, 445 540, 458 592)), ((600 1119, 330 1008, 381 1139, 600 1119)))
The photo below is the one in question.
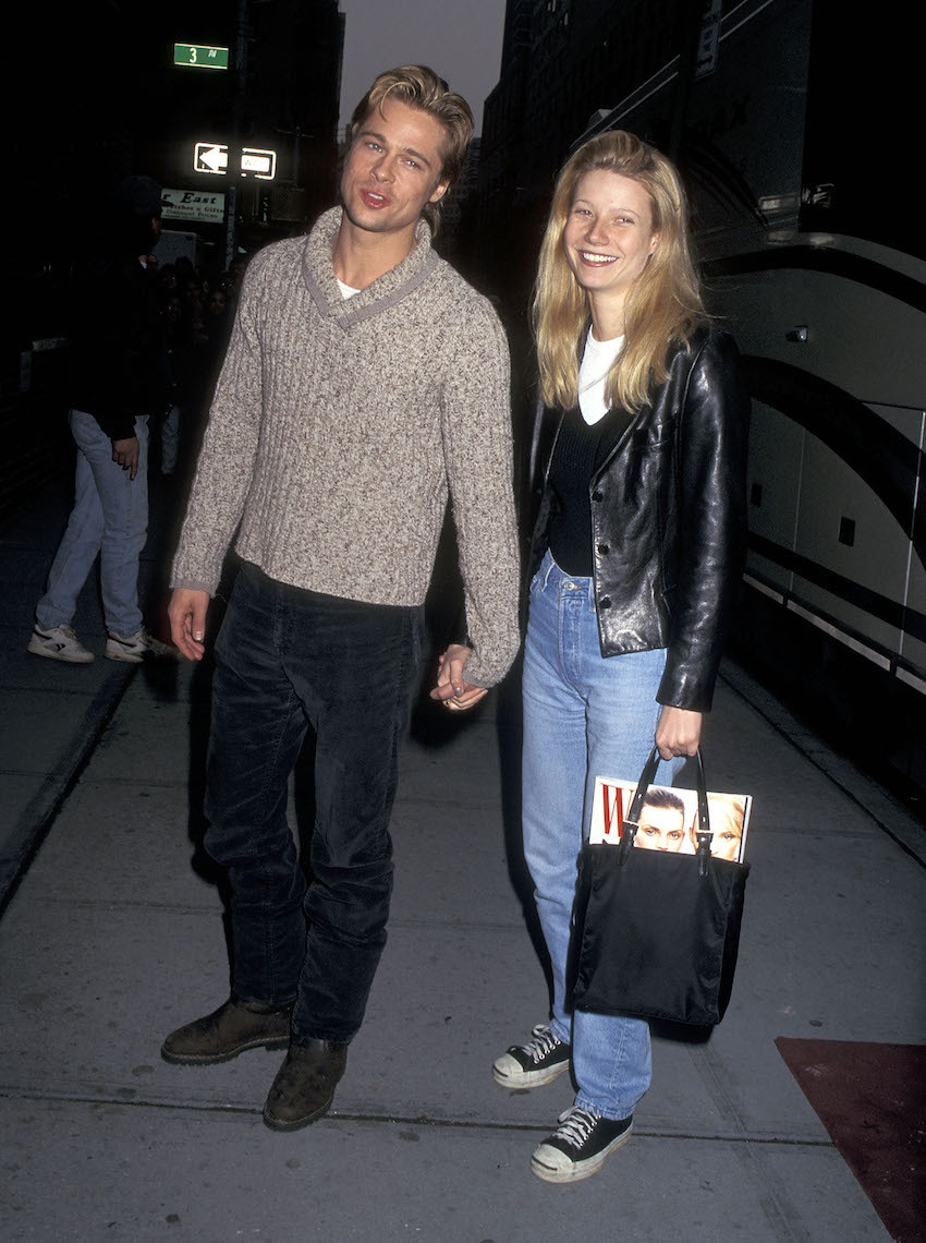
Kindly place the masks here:
MULTIPOLYGON (((596 776, 636 779, 653 747, 665 651, 601 654, 591 578, 547 552, 530 584, 524 655, 524 854, 552 967, 550 1025, 572 1043, 576 1104, 628 1117, 650 1081, 649 1025, 570 1012, 566 996, 577 860, 596 776)), ((664 766, 678 771, 681 761, 664 766)))

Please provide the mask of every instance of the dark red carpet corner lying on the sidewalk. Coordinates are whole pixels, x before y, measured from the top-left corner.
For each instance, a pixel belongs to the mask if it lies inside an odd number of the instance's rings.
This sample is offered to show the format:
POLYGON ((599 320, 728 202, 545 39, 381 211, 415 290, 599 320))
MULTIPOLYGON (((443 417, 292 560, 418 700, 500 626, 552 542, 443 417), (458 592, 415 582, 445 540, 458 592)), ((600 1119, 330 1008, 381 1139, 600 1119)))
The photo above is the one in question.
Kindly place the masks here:
POLYGON ((926 1047, 776 1042, 896 1243, 926 1243, 926 1047))

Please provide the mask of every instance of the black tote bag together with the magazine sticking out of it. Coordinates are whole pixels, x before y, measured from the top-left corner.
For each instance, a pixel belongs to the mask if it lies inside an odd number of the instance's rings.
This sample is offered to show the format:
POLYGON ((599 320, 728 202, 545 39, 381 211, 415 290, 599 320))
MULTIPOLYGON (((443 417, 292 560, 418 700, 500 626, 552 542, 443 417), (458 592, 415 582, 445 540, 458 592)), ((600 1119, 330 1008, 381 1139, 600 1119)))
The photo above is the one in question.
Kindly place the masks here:
POLYGON ((699 1027, 724 1017, 740 943, 751 799, 708 794, 700 752, 696 758, 696 793, 653 787, 655 748, 636 788, 596 782, 576 896, 576 1009, 699 1027))

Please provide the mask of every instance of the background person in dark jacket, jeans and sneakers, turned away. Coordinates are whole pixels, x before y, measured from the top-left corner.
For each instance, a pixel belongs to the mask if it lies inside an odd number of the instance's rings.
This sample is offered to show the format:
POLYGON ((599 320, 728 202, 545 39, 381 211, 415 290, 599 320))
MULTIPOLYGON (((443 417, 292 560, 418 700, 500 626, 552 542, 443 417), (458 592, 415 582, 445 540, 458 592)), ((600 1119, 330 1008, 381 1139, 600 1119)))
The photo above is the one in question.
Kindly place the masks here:
POLYGON ((106 656, 139 664, 174 649, 142 625, 138 559, 148 532, 148 416, 168 403, 169 373, 155 281, 145 259, 160 231, 160 188, 130 177, 117 191, 106 249, 74 287, 68 423, 77 444, 74 507, 29 650, 88 664, 72 629, 77 597, 99 554, 106 656))

